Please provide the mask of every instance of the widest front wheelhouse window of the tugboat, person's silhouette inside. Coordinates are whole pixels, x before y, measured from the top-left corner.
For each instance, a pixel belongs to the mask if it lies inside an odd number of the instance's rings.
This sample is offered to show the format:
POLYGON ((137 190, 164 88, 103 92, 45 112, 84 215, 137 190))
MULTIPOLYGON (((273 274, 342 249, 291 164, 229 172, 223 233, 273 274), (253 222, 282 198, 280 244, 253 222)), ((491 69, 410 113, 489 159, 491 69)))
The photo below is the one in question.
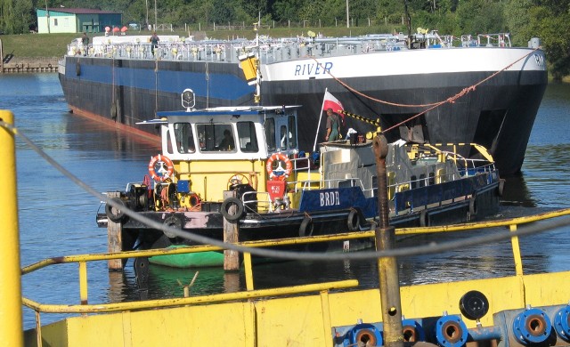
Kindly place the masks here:
POLYGON ((199 124, 196 132, 200 151, 235 151, 235 136, 230 124, 199 124))

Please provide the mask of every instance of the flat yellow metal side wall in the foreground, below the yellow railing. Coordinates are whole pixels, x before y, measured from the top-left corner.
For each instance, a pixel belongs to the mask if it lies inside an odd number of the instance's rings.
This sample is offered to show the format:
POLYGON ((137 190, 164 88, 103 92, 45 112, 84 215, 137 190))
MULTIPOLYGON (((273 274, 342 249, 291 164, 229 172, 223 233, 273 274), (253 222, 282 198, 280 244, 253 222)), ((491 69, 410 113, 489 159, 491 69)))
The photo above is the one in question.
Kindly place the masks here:
MULTIPOLYGON (((459 314, 460 297, 470 290, 489 298, 491 312, 526 304, 566 304, 569 280, 570 272, 559 272, 404 286, 402 310, 407 318, 438 317, 444 311, 459 314), (545 283, 547 288, 542 286, 545 283)), ((45 343, 57 346, 331 346, 331 327, 355 324, 358 319, 381 321, 380 302, 378 289, 323 290, 314 295, 75 317, 42 327, 42 336, 45 343)), ((481 323, 491 326, 493 317, 487 315, 481 323)), ((475 327, 475 322, 467 324, 475 327)), ((34 345, 34 332, 28 331, 26 337, 27 345, 34 345)))

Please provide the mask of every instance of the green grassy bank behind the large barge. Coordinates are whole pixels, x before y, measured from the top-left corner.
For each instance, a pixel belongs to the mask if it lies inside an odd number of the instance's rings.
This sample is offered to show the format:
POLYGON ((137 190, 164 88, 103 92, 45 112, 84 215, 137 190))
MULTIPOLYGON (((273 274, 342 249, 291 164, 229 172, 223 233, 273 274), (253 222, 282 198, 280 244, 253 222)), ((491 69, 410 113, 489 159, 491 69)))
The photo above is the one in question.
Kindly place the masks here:
MULTIPOLYGON (((264 28, 259 30, 261 35, 282 37, 305 35, 308 30, 321 32, 326 36, 358 36, 370 33, 387 32, 386 28, 362 27, 362 28, 264 28)), ((133 31, 128 35, 151 36, 149 31, 133 31)), ((196 38, 206 36, 217 39, 227 39, 233 37, 254 38, 256 33, 253 30, 216 30, 199 32, 159 32, 159 35, 193 35, 196 38)), ((13 52, 15 58, 34 57, 61 57, 67 51, 68 44, 81 34, 24 34, 24 35, 1 35, 0 40, 4 45, 4 55, 13 52)), ((90 34, 89 36, 103 36, 102 33, 90 34)))

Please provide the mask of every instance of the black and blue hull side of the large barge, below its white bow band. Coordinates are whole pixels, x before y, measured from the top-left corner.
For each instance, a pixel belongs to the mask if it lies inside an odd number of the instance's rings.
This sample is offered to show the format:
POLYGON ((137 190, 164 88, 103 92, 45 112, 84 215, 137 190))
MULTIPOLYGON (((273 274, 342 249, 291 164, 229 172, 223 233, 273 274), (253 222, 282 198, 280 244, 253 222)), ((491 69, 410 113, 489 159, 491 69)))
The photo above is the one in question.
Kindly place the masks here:
MULTIPOLYGON (((199 91, 197 108, 251 105, 254 102, 254 89, 243 81, 237 64, 111 61, 84 57, 66 57, 64 63, 60 81, 74 113, 102 118, 110 125, 127 125, 153 135, 158 135, 156 128, 135 123, 154 118, 157 111, 181 109, 180 93, 184 88, 199 91)), ((428 104, 446 100, 493 72, 354 77, 345 78, 343 82, 371 98, 402 104, 428 104)), ((406 125, 423 125, 423 137, 432 143, 481 144, 491 149, 502 175, 517 173, 546 85, 546 71, 504 71, 459 100, 430 110, 406 125)), ((265 81, 261 85, 262 104, 303 105, 299 111, 302 119, 299 148, 305 151, 314 149, 325 88, 343 102, 346 110, 362 117, 379 118, 384 130, 425 109, 370 101, 332 79, 265 81)), ((317 142, 324 140, 324 125, 323 118, 317 142)), ((343 133, 350 127, 361 133, 375 130, 371 125, 346 117, 343 133)), ((398 128, 386 134, 389 141, 395 141, 401 135, 398 128)))

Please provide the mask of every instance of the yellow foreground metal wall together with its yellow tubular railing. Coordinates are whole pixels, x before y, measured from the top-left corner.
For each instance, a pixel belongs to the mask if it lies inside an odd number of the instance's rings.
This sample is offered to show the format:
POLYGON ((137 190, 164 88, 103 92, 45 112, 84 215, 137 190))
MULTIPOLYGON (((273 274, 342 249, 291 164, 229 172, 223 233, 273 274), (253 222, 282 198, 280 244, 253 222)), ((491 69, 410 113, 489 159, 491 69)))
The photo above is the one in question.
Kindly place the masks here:
MULTIPOLYGON (((509 227, 570 214, 570 209, 497 222, 396 230, 397 235, 422 232, 458 232, 481 228, 509 227)), ((242 243, 242 246, 282 246, 346 238, 371 238, 372 231, 318 238, 289 238, 242 243)), ((460 297, 477 290, 489 299, 489 314, 481 319, 483 327, 493 326, 493 312, 546 305, 564 305, 570 298, 570 271, 525 275, 517 237, 511 238, 516 274, 503 278, 403 286, 400 289, 402 312, 408 319, 439 317, 447 312, 460 314, 460 297)), ((57 263, 78 262, 80 295, 86 294, 86 267, 89 261, 113 257, 129 258, 156 254, 211 251, 214 246, 175 250, 149 250, 121 254, 85 254, 58 258, 57 263)), ((468 250, 466 250, 468 252, 468 250)), ((22 273, 54 265, 53 260, 38 262, 22 273)), ((41 341, 52 346, 331 346, 331 328, 363 322, 379 322, 379 289, 356 290, 355 280, 306 286, 255 290, 249 254, 244 254, 248 291, 221 295, 180 297, 134 303, 41 304, 24 298, 26 306, 37 312, 71 312, 82 316, 40 327, 41 341), (336 289, 353 288, 337 292, 336 289), (332 290, 332 291, 331 291, 332 290), (372 309, 371 309, 372 308, 372 309), (107 314, 101 315, 96 313, 107 314), (89 315, 85 315, 89 313, 89 315), (104 332, 104 334, 102 333, 104 332)), ((85 302, 84 302, 85 303, 85 302)), ((38 315, 39 321, 39 315, 38 315)), ((476 322, 466 321, 468 327, 476 322)), ((37 345, 36 330, 25 334, 25 343, 37 345)))

